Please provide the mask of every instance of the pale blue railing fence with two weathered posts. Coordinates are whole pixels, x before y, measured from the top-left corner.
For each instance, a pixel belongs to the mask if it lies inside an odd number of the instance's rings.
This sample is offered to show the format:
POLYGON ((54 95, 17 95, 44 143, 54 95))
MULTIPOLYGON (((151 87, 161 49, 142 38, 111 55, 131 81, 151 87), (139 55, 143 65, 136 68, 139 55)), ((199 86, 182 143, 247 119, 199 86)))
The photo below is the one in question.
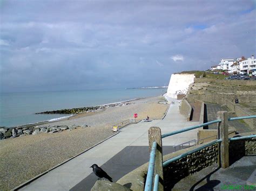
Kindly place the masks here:
POLYGON ((145 191, 151 191, 152 188, 154 191, 157 190, 164 190, 164 174, 163 168, 171 164, 171 162, 177 161, 181 158, 186 157, 189 154, 194 152, 200 151, 205 147, 214 145, 218 143, 218 159, 219 159, 219 166, 226 168, 229 166, 228 161, 228 141, 232 140, 240 140, 240 139, 248 139, 248 138, 256 138, 256 135, 251 136, 244 136, 244 137, 235 137, 235 138, 228 138, 228 121, 234 121, 239 119, 250 119, 256 118, 254 116, 244 116, 244 117, 232 117, 227 118, 227 111, 218 111, 218 119, 203 123, 196 126, 191 126, 189 128, 181 129, 178 131, 173 131, 170 133, 166 133, 161 135, 161 129, 158 127, 151 127, 149 129, 149 147, 150 147, 150 161, 149 161, 149 168, 147 171, 146 183, 145 183, 145 191), (181 132, 186 132, 193 129, 198 129, 203 126, 207 126, 210 124, 218 123, 218 139, 214 140, 211 143, 205 144, 204 146, 198 147, 192 151, 183 153, 178 155, 177 157, 171 158, 167 161, 163 162, 163 152, 162 152, 162 141, 161 139, 165 137, 169 137, 172 135, 176 135, 181 132), (155 175, 154 175, 155 174, 155 175), (154 183, 153 183, 154 181, 154 183))

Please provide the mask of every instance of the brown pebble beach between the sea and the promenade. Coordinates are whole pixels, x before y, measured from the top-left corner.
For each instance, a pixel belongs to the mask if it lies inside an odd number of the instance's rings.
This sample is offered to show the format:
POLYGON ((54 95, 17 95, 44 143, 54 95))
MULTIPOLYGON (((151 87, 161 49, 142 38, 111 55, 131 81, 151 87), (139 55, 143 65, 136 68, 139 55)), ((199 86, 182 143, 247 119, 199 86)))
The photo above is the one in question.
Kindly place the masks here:
POLYGON ((146 116, 161 119, 169 107, 159 103, 163 101, 161 96, 142 98, 51 123, 81 126, 77 129, 1 140, 0 190, 15 188, 112 136, 111 126, 132 119, 134 113, 138 114, 137 121, 146 116))

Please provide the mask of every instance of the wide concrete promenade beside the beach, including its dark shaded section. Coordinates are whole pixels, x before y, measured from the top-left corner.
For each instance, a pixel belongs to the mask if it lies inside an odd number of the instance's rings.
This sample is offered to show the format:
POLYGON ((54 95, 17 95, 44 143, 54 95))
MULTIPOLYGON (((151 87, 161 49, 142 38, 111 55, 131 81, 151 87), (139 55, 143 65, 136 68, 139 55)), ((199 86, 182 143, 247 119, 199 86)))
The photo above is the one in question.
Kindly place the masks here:
MULTIPOLYGON (((146 162, 144 160, 149 160, 147 131, 151 126, 159 126, 161 133, 164 134, 198 124, 199 122, 187 122, 186 117, 179 114, 179 103, 176 100, 175 104, 170 104, 170 108, 163 120, 128 125, 120 129, 116 136, 60 165, 19 190, 72 190, 72 188, 73 190, 90 190, 97 180, 97 177, 92 174, 92 168, 89 168, 92 164, 102 166, 112 176, 113 181, 117 181, 124 175, 119 172, 122 171, 119 167, 125 166, 127 173, 138 167, 138 165, 144 164, 146 162), (118 160, 114 160, 115 156, 118 156, 118 160), (114 164, 111 161, 115 161, 114 164), (132 166, 133 163, 136 164, 132 166), (89 179, 91 176, 93 178, 89 179), (76 187, 76 185, 78 186, 76 187)), ((164 138, 163 146, 166 148, 168 146, 172 147, 173 145, 197 139, 197 132, 198 130, 196 129, 164 138)))

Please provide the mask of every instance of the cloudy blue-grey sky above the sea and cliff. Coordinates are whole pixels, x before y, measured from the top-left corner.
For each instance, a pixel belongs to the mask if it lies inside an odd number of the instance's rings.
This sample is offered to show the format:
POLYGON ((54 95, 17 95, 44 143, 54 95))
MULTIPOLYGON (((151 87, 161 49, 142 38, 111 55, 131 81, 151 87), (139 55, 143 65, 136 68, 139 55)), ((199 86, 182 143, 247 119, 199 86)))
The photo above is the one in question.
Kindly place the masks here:
POLYGON ((255 55, 256 1, 0 0, 0 91, 168 86, 255 55))

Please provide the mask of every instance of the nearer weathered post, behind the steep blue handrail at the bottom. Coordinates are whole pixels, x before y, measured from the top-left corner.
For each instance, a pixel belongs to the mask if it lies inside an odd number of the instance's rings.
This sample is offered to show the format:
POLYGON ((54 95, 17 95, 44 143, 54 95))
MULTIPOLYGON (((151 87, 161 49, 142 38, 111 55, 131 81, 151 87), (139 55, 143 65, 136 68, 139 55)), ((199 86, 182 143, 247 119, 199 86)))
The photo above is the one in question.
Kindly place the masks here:
POLYGON ((153 142, 157 142, 156 162, 154 165, 154 176, 159 175, 158 190, 164 190, 164 172, 163 172, 163 152, 161 129, 157 126, 152 126, 149 129, 149 151, 151 152, 153 142))

